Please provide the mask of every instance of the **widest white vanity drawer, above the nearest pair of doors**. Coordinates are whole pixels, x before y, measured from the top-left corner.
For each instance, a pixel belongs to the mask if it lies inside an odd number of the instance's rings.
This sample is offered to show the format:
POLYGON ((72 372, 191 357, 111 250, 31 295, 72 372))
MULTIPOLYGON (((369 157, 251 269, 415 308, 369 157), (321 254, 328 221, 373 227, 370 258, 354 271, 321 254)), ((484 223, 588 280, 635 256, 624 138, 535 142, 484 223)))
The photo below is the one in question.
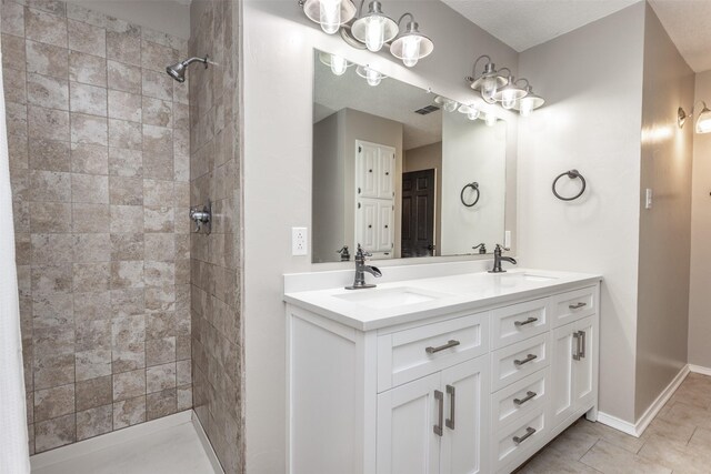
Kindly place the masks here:
POLYGON ((485 354, 488 313, 378 336, 378 392, 485 354))

